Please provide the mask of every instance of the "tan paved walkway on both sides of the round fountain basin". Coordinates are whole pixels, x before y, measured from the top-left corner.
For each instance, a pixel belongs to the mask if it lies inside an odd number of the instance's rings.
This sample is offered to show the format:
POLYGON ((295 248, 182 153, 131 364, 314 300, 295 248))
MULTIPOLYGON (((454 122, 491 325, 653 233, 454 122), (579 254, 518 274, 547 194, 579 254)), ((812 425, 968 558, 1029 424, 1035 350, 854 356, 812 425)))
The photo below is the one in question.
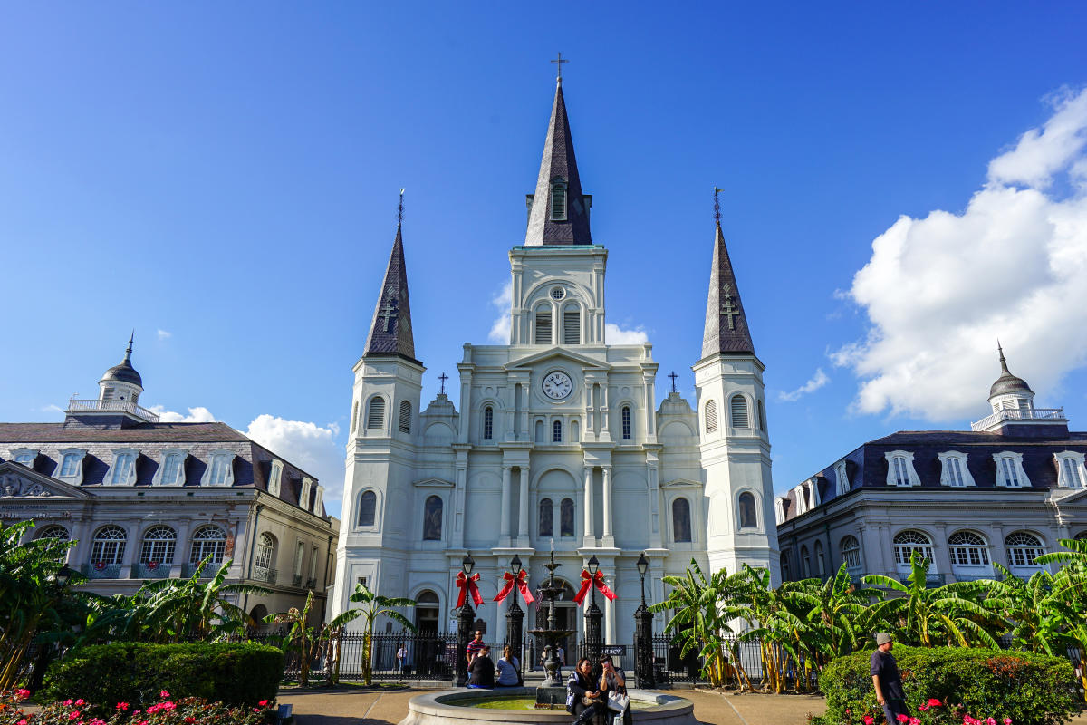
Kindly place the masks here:
MULTIPOLYGON (((396 725, 408 714, 408 700, 433 690, 360 692, 279 690, 279 702, 295 705, 298 725, 396 725)), ((811 695, 729 695, 673 690, 695 702, 695 716, 707 725, 805 725, 808 713, 823 714, 823 698, 811 695)))

